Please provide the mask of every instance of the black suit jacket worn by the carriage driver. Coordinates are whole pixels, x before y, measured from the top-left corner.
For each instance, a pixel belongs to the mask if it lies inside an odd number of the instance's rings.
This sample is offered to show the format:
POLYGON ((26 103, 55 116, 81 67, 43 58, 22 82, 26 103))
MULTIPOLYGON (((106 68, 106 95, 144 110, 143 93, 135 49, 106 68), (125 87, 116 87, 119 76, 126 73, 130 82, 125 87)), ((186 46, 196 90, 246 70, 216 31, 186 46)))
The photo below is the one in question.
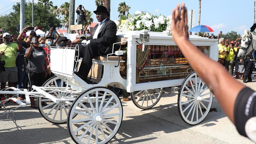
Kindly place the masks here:
MULTIPOLYGON (((97 24, 94 27, 93 35, 98 26, 99 24, 97 24)), ((90 43, 99 43, 98 50, 100 55, 107 55, 109 53, 112 53, 113 43, 115 43, 116 41, 116 31, 117 31, 116 23, 107 18, 106 21, 102 24, 102 27, 98 34, 98 38, 90 40, 90 43)))

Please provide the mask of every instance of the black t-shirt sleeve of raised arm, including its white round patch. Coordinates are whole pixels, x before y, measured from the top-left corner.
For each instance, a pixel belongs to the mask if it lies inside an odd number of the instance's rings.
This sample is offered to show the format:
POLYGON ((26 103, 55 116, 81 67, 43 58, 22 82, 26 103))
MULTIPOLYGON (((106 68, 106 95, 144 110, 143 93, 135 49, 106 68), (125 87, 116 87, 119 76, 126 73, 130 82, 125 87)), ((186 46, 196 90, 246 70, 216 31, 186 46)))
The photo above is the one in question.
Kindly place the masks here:
POLYGON ((243 88, 236 99, 234 118, 237 131, 256 142, 256 92, 243 88))

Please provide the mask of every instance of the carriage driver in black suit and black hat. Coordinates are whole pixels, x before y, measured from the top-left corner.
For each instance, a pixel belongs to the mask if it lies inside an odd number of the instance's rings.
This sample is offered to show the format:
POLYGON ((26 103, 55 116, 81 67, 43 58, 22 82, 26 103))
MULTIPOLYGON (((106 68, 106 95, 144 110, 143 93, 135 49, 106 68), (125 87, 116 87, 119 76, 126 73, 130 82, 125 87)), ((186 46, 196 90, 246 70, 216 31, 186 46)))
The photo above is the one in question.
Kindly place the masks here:
MULTIPOLYGON (((88 38, 86 46, 79 47, 79 58, 83 58, 79 71, 74 72, 84 81, 87 81, 87 76, 92 67, 92 59, 97 56, 106 56, 112 53, 112 46, 116 40, 117 26, 115 22, 108 19, 110 15, 107 8, 98 6, 96 11, 96 18, 99 22, 93 29, 92 38, 88 38)), ((76 53, 76 55, 78 55, 76 53)))

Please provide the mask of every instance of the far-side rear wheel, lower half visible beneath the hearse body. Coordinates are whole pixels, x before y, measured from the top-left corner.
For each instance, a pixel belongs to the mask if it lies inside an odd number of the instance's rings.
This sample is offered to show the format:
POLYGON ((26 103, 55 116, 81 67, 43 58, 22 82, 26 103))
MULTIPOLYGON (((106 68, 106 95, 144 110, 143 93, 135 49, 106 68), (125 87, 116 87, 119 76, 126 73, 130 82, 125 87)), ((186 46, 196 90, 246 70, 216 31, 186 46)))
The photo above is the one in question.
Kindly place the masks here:
POLYGON ((148 89, 131 93, 132 102, 141 109, 149 109, 155 106, 162 96, 161 89, 148 89), (136 94, 134 94, 136 93, 136 94))

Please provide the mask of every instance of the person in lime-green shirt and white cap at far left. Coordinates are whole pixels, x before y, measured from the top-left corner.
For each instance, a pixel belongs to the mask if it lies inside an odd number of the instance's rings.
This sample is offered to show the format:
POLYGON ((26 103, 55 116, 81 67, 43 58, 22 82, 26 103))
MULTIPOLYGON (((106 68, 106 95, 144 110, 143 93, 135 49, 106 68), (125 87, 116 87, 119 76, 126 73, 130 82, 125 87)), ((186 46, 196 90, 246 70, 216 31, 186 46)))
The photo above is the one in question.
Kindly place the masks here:
MULTIPOLYGON (((6 82, 8 82, 9 87, 15 87, 15 83, 18 81, 18 69, 15 64, 16 55, 17 50, 22 49, 22 45, 14 35, 4 33, 3 41, 4 43, 0 44, 0 52, 4 52, 3 55, 1 54, 1 61, 5 61, 5 71, 0 73, 1 89, 5 89, 6 82), (17 43, 10 43, 11 39, 17 43)), ((1 96, 3 97, 4 95, 1 96)), ((12 95, 10 94, 9 97, 12 97, 12 95)))

